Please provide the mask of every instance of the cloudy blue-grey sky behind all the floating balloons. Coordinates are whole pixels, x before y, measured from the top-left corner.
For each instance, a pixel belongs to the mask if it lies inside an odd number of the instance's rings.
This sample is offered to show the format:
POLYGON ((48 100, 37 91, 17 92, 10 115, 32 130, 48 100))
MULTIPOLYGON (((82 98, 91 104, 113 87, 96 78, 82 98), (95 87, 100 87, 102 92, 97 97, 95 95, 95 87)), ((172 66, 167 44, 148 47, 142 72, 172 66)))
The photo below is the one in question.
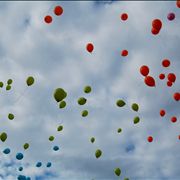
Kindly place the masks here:
POLYGON ((117 167, 121 179, 180 179, 180 105, 172 98, 180 91, 180 9, 175 2, 0 2, 0 21, 0 81, 13 79, 10 91, 0 89, 0 132, 8 134, 0 142, 0 180, 19 174, 33 180, 115 180, 117 167), (63 7, 61 16, 53 14, 56 5, 63 7), (167 19, 169 12, 176 15, 173 21, 167 19), (125 22, 122 13, 129 16, 125 22), (51 24, 44 22, 48 14, 51 24), (163 26, 154 36, 151 23, 157 18, 163 26), (92 53, 86 51, 89 42, 92 53), (121 56, 123 49, 128 56, 121 56), (162 67, 163 59, 171 61, 169 68, 162 67), (145 85, 142 65, 149 66, 156 87, 145 85), (158 76, 170 72, 177 79, 167 87, 158 76), (35 78, 33 86, 27 87, 28 76, 35 78), (83 92, 86 85, 92 93, 83 92), (68 93, 65 109, 53 98, 59 87, 68 93), (81 96, 87 98, 83 107, 77 104, 81 96), (118 108, 117 99, 126 106, 118 108), (131 110, 134 102, 138 112, 131 110), (84 109, 89 111, 85 118, 84 109), (163 118, 160 109, 166 110, 163 118), (10 112, 13 121, 7 118, 10 112), (136 125, 135 116, 141 119, 136 125), (62 132, 56 131, 59 125, 62 132), (153 136, 152 143, 148 136, 153 136), (26 151, 25 142, 30 144, 26 151), (7 147, 9 155, 2 152, 7 147), (99 159, 96 149, 103 152, 99 159), (16 160, 17 152, 24 154, 22 161, 16 160), (35 166, 38 161, 41 168, 35 166))

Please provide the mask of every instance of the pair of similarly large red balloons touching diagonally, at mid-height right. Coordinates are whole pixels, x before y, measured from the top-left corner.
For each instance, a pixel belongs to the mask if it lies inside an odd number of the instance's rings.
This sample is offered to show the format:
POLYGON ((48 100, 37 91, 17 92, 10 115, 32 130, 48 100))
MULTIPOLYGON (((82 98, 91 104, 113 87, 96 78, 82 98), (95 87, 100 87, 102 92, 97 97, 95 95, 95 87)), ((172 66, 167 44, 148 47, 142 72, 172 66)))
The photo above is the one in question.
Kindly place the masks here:
POLYGON ((155 79, 152 76, 149 76, 149 67, 146 65, 143 65, 140 67, 140 73, 142 76, 144 76, 144 83, 149 86, 149 87, 155 87, 156 83, 155 83, 155 79))

